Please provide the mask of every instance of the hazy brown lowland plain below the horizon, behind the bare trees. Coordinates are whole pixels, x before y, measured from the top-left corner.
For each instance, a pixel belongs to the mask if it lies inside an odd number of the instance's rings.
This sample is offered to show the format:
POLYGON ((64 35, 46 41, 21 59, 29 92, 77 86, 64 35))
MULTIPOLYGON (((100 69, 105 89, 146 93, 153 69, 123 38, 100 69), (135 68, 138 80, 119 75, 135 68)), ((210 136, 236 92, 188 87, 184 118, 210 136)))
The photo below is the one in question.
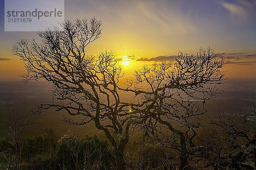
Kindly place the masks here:
MULTIPOLYGON (((229 78, 225 81, 223 94, 216 99, 207 101, 206 108, 209 115, 216 116, 218 110, 226 113, 238 113, 247 107, 246 102, 256 102, 256 79, 229 78)), ((73 130, 79 136, 98 134, 94 125, 71 126, 61 121, 62 116, 68 116, 65 111, 55 112, 45 110, 40 115, 34 115, 31 110, 41 103, 51 102, 48 82, 0 82, 0 135, 6 136, 6 127, 12 125, 15 111, 17 119, 28 119, 26 135, 43 133, 52 129, 58 137, 67 130, 73 130)), ((133 98, 130 96, 130 100, 133 98)))

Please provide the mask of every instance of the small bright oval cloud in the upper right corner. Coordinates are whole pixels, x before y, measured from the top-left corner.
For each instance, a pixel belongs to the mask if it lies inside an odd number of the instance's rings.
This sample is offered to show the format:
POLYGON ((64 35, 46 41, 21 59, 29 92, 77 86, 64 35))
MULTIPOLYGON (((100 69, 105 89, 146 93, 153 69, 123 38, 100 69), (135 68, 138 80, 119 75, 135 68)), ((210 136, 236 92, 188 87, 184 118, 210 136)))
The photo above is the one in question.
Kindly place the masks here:
POLYGON ((247 16, 247 10, 244 9, 244 7, 240 6, 240 4, 222 2, 221 5, 224 8, 226 8, 228 11, 230 11, 230 14, 233 14, 239 17, 247 16))

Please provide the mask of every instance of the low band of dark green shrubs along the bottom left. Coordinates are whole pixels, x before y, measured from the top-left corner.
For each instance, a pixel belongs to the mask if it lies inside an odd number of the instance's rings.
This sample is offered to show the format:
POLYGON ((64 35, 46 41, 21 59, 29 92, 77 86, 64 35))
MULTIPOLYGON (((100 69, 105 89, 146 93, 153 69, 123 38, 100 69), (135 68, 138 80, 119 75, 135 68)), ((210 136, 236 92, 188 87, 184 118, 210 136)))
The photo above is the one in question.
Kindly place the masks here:
MULTIPOLYGON (((23 150, 20 170, 111 170, 115 169, 113 155, 108 150, 105 140, 97 136, 79 139, 68 130, 61 139, 55 139, 52 130, 28 136, 22 139, 23 150)), ((0 147, 4 148, 0 155, 0 169, 15 170, 8 166, 4 156, 15 159, 9 150, 12 145, 1 139, 0 147)))

